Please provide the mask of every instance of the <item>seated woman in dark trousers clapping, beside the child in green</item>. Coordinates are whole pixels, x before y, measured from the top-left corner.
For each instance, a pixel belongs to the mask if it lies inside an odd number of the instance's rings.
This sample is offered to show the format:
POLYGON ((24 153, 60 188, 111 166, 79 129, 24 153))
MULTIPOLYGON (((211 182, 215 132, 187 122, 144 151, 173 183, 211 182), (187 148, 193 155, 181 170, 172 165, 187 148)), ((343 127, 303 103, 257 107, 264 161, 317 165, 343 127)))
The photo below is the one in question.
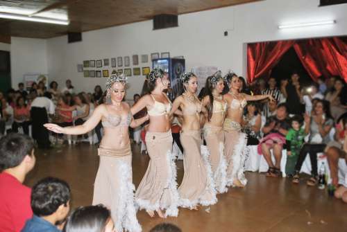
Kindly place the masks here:
POLYGON ((317 153, 323 152, 325 146, 330 141, 330 130, 334 125, 334 121, 330 116, 329 102, 318 100, 314 105, 312 116, 305 114, 305 134, 310 134, 307 143, 300 150, 298 161, 295 166, 295 175, 293 183, 298 184, 300 181, 300 170, 303 166, 307 153, 310 154, 312 166, 311 178, 307 180, 308 186, 315 186, 317 183, 317 153))

